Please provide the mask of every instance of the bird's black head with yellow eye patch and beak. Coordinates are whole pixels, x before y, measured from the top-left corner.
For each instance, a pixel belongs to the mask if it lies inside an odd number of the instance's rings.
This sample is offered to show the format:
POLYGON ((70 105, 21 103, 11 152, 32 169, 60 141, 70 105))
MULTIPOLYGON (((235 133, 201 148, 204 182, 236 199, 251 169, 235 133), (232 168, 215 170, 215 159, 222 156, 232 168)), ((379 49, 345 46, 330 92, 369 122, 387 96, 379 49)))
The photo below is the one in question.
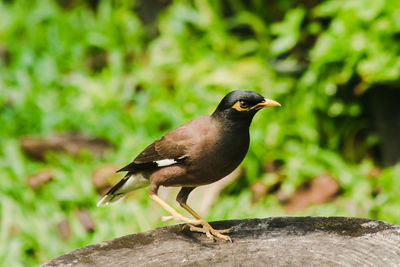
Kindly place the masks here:
POLYGON ((250 125, 257 111, 274 106, 280 104, 254 91, 235 90, 221 100, 212 116, 234 124, 250 125))

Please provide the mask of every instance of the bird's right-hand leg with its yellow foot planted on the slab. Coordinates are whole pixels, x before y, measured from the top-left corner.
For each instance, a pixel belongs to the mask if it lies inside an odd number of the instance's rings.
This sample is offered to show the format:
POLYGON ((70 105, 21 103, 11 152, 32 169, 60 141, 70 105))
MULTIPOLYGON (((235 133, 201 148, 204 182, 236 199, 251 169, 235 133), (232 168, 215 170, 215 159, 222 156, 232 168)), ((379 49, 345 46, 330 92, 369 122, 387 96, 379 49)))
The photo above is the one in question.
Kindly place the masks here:
POLYGON ((199 214, 197 214, 191 207, 189 207, 186 204, 187 198, 189 196, 189 193, 194 189, 194 187, 182 187, 181 191, 179 191, 178 196, 176 197, 176 201, 178 201, 179 205, 181 205, 182 208, 187 210, 190 214, 193 215, 196 219, 200 220, 200 224, 203 227, 197 227, 194 225, 190 225, 190 231, 195 231, 195 232, 201 232, 205 233, 208 238, 211 240, 214 240, 215 237, 219 237, 221 239, 224 239, 226 241, 232 242, 231 238, 227 235, 223 235, 223 233, 229 233, 230 229, 223 229, 223 230, 217 230, 212 228, 212 226, 204 220, 199 214))

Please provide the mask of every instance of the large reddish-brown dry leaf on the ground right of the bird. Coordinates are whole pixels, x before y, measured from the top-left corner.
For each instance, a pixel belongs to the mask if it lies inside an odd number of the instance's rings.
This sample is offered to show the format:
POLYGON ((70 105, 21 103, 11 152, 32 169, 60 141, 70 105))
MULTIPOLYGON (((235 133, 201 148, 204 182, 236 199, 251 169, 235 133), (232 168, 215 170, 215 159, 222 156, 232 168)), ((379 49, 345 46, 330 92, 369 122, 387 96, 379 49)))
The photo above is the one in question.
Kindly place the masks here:
POLYGON ((320 174, 300 186, 289 199, 285 209, 291 213, 312 204, 324 203, 331 200, 338 192, 339 183, 329 174, 320 174))

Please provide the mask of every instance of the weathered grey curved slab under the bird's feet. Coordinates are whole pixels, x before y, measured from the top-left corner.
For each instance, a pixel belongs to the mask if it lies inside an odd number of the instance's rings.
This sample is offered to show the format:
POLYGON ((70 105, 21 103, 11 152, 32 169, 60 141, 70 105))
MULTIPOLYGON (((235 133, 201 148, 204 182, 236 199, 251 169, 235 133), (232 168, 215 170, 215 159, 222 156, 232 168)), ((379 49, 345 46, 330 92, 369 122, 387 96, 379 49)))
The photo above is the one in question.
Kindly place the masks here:
POLYGON ((211 223, 233 243, 181 225, 86 246, 42 266, 400 266, 400 226, 362 218, 277 217, 211 223))

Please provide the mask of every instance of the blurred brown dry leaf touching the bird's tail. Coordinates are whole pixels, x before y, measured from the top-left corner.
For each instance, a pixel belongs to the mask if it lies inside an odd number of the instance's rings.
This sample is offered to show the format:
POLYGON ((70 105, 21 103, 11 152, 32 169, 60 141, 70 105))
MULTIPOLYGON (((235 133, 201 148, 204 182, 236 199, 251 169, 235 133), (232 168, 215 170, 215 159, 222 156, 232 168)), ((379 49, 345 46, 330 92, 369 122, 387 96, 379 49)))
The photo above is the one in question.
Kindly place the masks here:
POLYGON ((118 174, 118 168, 113 164, 107 164, 97 167, 92 173, 92 184, 96 188, 97 193, 104 195, 108 191, 118 174))

